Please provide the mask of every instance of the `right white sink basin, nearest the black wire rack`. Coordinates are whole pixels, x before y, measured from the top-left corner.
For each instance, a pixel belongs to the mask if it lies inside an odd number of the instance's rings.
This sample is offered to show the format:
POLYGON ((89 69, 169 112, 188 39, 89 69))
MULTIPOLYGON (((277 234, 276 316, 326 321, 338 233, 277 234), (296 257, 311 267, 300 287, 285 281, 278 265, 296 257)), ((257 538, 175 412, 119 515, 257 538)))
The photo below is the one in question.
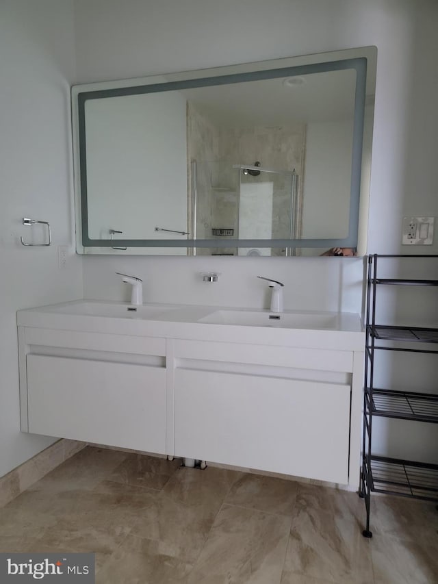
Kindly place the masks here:
POLYGON ((337 330, 337 314, 323 312, 250 312, 246 310, 217 310, 198 322, 210 325, 240 325, 244 327, 275 327, 281 329, 337 330))

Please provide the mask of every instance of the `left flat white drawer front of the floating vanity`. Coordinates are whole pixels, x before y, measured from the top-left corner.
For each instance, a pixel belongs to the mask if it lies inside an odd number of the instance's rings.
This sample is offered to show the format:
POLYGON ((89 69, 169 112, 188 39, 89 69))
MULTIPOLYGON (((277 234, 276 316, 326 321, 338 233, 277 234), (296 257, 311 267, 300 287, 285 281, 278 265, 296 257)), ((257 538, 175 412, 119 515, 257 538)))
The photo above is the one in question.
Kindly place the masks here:
POLYGON ((166 453, 166 370, 27 355, 29 432, 166 453))

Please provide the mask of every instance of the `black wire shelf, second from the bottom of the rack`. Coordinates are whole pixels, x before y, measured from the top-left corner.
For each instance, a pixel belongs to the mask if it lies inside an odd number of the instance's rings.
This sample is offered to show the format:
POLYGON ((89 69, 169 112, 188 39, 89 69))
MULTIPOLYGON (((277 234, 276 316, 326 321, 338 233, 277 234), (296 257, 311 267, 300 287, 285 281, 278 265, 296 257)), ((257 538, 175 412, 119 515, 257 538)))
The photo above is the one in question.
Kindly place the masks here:
POLYGON ((438 423, 438 395, 435 394, 368 389, 367 401, 374 416, 438 423))

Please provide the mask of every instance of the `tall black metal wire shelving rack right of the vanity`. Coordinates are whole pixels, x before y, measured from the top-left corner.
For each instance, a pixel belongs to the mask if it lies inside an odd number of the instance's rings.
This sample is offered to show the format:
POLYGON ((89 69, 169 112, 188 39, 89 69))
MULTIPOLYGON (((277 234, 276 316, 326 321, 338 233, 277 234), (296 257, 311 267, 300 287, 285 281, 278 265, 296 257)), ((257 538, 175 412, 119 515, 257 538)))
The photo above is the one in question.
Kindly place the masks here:
MULTIPOLYGON (((438 327, 394 326, 376 324, 377 290, 389 286, 438 286, 438 279, 404 279, 378 277, 381 258, 427 257, 437 262, 438 255, 370 255, 368 257, 367 304, 365 325, 365 390, 363 397, 362 470, 359 495, 365 500, 365 537, 370 531, 371 493, 387 493, 438 501, 438 464, 394 459, 372 453, 374 416, 438 423, 438 388, 436 393, 375 388, 375 357, 378 351, 424 353, 436 359, 438 327)), ((403 260, 400 260, 403 261, 403 260)), ((438 273, 438 264, 431 264, 438 273)), ((385 264, 384 264, 385 267, 385 264)), ((438 302, 438 296, 437 296, 438 302)))

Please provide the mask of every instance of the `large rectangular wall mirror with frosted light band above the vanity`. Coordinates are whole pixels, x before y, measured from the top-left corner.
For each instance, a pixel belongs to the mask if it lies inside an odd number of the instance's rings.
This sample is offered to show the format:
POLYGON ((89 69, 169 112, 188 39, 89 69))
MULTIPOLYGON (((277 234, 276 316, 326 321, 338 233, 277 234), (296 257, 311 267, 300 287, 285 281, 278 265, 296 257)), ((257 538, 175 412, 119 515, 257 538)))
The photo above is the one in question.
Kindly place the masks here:
POLYGON ((74 86, 78 253, 365 253, 376 48, 74 86))

